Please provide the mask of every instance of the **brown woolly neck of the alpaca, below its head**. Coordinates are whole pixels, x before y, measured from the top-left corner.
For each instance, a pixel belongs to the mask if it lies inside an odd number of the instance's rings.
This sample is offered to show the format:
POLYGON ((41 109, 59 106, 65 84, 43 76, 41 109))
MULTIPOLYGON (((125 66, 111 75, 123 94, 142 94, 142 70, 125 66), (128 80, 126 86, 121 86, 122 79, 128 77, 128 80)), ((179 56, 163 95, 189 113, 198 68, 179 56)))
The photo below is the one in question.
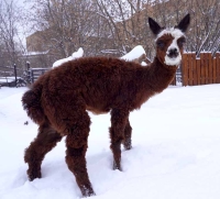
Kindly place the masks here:
POLYGON ((161 92, 174 79, 176 74, 177 66, 167 66, 162 64, 157 57, 154 58, 154 62, 148 66, 147 71, 147 85, 155 92, 161 92))

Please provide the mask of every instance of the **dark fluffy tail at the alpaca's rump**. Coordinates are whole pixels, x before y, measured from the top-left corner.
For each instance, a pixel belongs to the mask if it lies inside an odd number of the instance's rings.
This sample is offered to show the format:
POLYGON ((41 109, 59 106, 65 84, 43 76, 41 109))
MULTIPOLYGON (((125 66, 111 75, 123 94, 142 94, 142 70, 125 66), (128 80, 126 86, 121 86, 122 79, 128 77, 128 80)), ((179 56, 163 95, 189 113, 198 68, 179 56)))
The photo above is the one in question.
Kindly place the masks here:
POLYGON ((28 115, 37 124, 45 121, 45 114, 41 104, 42 86, 37 85, 26 91, 22 97, 22 104, 28 115))

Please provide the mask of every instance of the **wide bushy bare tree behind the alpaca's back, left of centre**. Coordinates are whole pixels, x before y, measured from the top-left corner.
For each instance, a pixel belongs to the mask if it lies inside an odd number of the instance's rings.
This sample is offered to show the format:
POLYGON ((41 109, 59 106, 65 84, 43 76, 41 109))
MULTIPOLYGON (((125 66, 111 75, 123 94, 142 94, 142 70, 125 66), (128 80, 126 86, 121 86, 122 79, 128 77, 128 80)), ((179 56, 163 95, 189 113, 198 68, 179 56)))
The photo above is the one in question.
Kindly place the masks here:
POLYGON ((36 0, 33 9, 35 30, 44 41, 42 49, 51 49, 59 57, 67 57, 79 47, 86 55, 96 55, 110 41, 108 26, 97 14, 94 1, 36 0))

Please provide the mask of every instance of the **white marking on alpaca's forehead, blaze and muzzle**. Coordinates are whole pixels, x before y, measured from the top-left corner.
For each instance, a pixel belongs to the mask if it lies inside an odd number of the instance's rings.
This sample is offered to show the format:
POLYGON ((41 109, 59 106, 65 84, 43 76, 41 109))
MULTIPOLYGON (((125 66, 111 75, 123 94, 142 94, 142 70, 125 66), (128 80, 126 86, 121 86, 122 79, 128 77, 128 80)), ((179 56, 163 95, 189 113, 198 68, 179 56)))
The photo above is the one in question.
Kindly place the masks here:
POLYGON ((174 29, 174 27, 165 29, 157 35, 156 41, 163 35, 172 35, 174 37, 170 45, 167 47, 165 64, 169 66, 179 65, 182 62, 182 54, 179 51, 179 46, 177 44, 177 40, 185 36, 185 34, 178 29, 174 29), (170 56, 170 52, 173 52, 173 54, 176 54, 177 56, 170 56))

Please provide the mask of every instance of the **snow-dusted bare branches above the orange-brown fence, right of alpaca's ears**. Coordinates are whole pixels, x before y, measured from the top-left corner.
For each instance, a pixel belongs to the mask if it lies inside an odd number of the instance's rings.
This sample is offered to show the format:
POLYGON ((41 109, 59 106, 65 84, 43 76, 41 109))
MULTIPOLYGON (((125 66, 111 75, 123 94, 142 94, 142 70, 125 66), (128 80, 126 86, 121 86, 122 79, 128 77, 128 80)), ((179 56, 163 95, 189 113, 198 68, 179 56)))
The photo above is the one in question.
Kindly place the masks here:
POLYGON ((191 3, 191 13, 195 21, 191 26, 190 48, 197 52, 211 52, 215 54, 220 49, 220 1, 195 0, 191 3))

